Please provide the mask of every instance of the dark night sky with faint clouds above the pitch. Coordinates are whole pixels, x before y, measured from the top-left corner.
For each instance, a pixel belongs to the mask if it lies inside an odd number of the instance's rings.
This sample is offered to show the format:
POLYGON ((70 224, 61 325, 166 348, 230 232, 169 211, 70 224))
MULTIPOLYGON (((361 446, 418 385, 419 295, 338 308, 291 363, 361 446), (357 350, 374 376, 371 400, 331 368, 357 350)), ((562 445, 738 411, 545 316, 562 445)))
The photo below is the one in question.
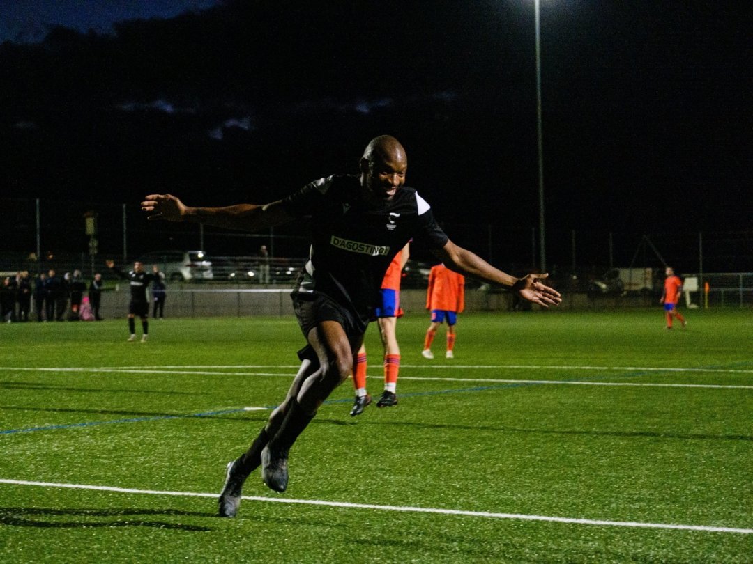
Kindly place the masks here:
MULTIPOLYGON (((547 231, 751 232, 753 11, 541 2, 547 231)), ((0 2, 8 196, 261 203, 391 133, 458 223, 538 222, 534 4, 0 2)))

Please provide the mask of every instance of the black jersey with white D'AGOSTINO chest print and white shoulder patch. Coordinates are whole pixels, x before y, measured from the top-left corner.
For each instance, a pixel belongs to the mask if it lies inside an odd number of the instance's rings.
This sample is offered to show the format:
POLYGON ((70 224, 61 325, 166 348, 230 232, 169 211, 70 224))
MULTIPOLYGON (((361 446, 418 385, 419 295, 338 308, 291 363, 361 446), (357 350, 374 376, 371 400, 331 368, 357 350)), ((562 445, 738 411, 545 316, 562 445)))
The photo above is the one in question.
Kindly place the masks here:
POLYGON ((416 190, 368 204, 358 176, 320 178, 282 201, 294 217, 311 216, 309 261, 297 292, 321 292, 368 320, 384 273, 411 238, 441 249, 447 235, 416 190))

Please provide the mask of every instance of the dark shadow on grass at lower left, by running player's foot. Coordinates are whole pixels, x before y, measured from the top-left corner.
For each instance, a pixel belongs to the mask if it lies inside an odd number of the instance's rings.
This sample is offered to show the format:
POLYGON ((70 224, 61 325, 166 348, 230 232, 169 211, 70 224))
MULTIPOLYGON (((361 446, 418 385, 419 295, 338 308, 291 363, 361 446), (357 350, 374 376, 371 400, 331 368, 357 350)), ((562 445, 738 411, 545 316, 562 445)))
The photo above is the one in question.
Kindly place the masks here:
POLYGON ((179 531, 212 531, 210 527, 146 520, 140 517, 215 517, 214 512, 178 511, 176 509, 53 509, 0 508, 0 525, 38 527, 40 529, 91 529, 94 527, 152 527, 179 531), (56 517, 84 517, 81 520, 57 520, 56 517), (87 520, 86 517, 94 517, 87 520), (102 517, 116 517, 101 520, 102 517))

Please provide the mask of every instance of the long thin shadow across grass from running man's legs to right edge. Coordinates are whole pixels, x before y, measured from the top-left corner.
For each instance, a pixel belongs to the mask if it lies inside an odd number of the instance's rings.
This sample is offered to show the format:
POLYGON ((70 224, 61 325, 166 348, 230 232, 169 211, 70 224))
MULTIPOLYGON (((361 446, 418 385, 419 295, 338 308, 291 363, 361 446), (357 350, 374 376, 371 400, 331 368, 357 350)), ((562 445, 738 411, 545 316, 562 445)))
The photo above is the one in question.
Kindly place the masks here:
MULTIPOLYGON (((342 422, 335 420, 322 420, 321 423, 334 423, 342 425, 342 422)), ((354 421, 346 422, 353 424, 354 421)), ((620 437, 620 438, 671 438, 682 441, 703 440, 703 441, 753 441, 753 435, 710 435, 705 433, 671 433, 658 431, 578 431, 567 429, 521 429, 520 427, 492 427, 492 426, 475 426, 475 425, 449 425, 447 423, 407 423, 404 421, 358 421, 358 424, 378 425, 378 426, 401 426, 413 427, 414 429, 451 429, 467 431, 493 431, 509 433, 529 433, 530 435, 586 435, 596 437, 620 437)))

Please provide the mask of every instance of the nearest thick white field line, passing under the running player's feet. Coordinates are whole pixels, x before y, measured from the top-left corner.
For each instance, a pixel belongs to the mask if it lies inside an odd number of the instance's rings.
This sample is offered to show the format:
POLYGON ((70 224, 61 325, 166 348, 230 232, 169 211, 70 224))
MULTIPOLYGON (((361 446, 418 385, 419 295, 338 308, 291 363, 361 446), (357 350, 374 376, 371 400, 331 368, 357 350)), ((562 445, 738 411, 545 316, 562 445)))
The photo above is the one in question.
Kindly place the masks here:
MULTIPOLYGON (((34 482, 26 480, 9 480, 0 478, 0 484, 11 484, 16 486, 39 486, 39 487, 57 487, 67 488, 72 490, 96 490, 113 493, 133 493, 141 495, 151 496, 183 496, 183 497, 207 497, 216 498, 216 493, 200 493, 200 492, 171 492, 160 490, 134 490, 131 488, 123 487, 109 487, 109 486, 91 486, 86 484, 55 484, 52 482, 34 482)), ((274 502, 274 503, 288 503, 299 505, 320 505, 325 507, 334 508, 349 508, 349 509, 373 509, 377 511, 402 511, 405 513, 431 513, 442 515, 461 515, 464 517, 485 517, 490 519, 510 519, 510 520, 526 520, 526 521, 546 521, 550 523, 569 523, 578 525, 597 525, 597 526, 615 526, 615 527, 629 527, 639 529, 674 529, 681 531, 702 531, 702 532, 727 532, 737 533, 741 535, 753 534, 753 529, 738 529, 735 527, 721 527, 721 526, 706 526, 706 525, 681 525, 675 523, 641 523, 636 521, 610 521, 601 519, 581 519, 578 517, 551 517, 548 515, 527 515, 517 513, 492 513, 489 511, 462 511, 460 509, 442 509, 442 508, 422 508, 422 507, 410 507, 405 505, 373 505, 370 503, 348 503, 348 502, 328 502, 322 499, 279 499, 268 498, 261 496, 243 496, 242 499, 247 499, 252 502, 274 502)))

